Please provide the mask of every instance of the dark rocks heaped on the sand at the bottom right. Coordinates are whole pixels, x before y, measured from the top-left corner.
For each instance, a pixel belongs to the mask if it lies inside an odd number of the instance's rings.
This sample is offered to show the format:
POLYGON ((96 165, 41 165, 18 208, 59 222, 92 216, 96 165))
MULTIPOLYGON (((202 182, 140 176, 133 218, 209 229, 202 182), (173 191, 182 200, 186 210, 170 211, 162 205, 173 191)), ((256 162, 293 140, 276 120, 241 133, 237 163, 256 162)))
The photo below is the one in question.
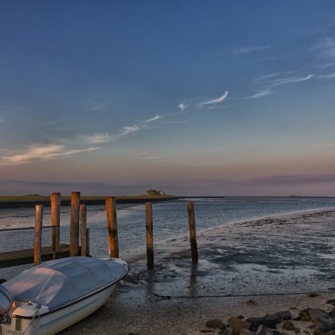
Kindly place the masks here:
MULTIPOLYGON (((327 301, 328 304, 335 306, 335 299, 327 301)), ((300 328, 291 321, 290 311, 281 311, 274 314, 267 314, 262 318, 244 318, 244 316, 232 316, 223 323, 221 320, 209 320, 206 323, 207 329, 202 333, 218 331, 221 335, 287 335, 300 334, 300 328), (285 332, 288 331, 288 332, 285 332)), ((304 334, 311 335, 335 335, 335 308, 332 311, 322 311, 320 308, 307 308, 300 311, 297 318, 293 320, 309 322, 310 331, 304 330, 304 334)), ((295 322, 297 324, 297 322, 295 322)))

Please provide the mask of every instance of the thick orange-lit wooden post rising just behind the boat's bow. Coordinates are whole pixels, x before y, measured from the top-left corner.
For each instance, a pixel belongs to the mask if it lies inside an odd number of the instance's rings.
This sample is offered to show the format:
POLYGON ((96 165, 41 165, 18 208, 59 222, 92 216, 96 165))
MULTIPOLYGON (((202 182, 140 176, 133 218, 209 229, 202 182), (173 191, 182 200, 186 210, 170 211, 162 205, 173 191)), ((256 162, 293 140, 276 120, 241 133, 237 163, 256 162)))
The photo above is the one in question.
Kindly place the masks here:
POLYGON ((119 258, 119 237, 117 235, 117 207, 115 198, 106 198, 107 231, 111 258, 119 258))

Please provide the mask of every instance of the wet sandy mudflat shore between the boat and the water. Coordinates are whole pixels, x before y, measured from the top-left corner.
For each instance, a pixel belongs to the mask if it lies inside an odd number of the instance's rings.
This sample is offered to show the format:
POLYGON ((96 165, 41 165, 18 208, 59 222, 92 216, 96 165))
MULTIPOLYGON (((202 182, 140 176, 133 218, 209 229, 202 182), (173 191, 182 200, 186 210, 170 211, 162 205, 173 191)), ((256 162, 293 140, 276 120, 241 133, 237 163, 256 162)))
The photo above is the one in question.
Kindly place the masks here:
MULTIPOLYGON (((159 299, 129 274, 103 308, 61 334, 202 334, 211 319, 329 309, 326 301, 335 297, 334 226, 335 209, 231 223, 198 234, 198 265, 191 263, 187 237, 156 244, 153 271, 145 267, 143 249, 129 253, 124 258, 131 269, 159 295, 251 296, 159 299), (289 292, 304 294, 259 296, 289 292), (255 304, 246 304, 250 299, 255 304)), ((312 334, 310 324, 294 323, 312 334)))

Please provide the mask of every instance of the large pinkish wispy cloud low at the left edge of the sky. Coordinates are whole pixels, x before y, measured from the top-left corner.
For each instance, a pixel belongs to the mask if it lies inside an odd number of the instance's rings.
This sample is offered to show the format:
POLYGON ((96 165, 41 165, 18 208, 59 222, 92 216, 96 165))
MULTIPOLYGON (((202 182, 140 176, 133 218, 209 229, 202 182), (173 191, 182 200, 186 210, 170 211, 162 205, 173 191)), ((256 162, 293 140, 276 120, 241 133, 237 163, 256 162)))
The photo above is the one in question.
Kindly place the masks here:
POLYGON ((88 149, 68 149, 64 145, 49 144, 46 146, 42 145, 31 145, 27 147, 21 154, 15 154, 12 156, 4 156, 0 158, 0 165, 22 165, 35 161, 47 161, 57 157, 72 156, 79 154, 84 151, 93 151, 101 149, 88 148, 88 149))

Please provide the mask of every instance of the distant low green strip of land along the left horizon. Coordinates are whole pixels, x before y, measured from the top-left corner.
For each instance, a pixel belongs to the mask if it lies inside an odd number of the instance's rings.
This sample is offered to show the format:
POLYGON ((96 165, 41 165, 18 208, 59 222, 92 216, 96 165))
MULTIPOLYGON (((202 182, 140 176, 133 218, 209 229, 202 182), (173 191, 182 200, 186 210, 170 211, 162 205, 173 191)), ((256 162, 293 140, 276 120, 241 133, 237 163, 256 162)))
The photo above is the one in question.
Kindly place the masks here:
MULTIPOLYGON (((82 204, 105 204, 105 196, 82 196, 80 203, 82 204)), ((144 202, 163 202, 176 200, 179 197, 174 195, 134 195, 134 196, 115 196, 117 204, 140 204, 144 202)), ((70 196, 61 197, 61 206, 70 206, 70 196)), ((50 196, 46 195, 23 195, 23 196, 0 196, 0 209, 3 208, 22 208, 35 207, 36 204, 43 204, 45 207, 50 207, 50 196)))

